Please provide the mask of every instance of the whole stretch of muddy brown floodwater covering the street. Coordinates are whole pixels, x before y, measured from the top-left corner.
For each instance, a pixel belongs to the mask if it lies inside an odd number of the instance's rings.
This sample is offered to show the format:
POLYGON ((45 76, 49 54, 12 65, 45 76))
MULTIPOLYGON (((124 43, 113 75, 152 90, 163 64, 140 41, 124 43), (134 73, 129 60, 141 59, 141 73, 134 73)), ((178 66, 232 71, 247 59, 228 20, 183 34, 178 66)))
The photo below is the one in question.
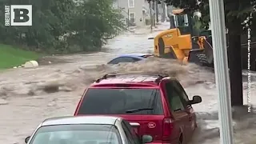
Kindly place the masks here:
MULTIPOLYGON (((169 24, 159 27, 164 29, 165 26, 169 24)), ((150 30, 142 31, 148 33, 150 30)), ((53 61, 35 69, 6 70, 0 73, 0 143, 22 144, 24 138, 45 118, 74 114, 86 86, 95 78, 112 71, 102 64, 118 54, 152 53, 153 40, 147 38, 154 34, 122 34, 110 40, 102 50, 104 52, 55 56, 60 63, 53 61)), ((181 66, 172 60, 150 58, 146 62, 120 65, 118 71, 161 71, 178 78, 190 97, 202 96, 202 103, 194 105, 199 128, 193 143, 219 143, 218 92, 213 70, 194 64, 181 66)), ((246 72, 243 75, 246 104, 246 72)), ((251 77, 251 102, 256 105, 256 74, 251 77)), ((234 137, 238 144, 254 144, 256 141, 256 114, 246 111, 246 107, 234 109, 234 137)))

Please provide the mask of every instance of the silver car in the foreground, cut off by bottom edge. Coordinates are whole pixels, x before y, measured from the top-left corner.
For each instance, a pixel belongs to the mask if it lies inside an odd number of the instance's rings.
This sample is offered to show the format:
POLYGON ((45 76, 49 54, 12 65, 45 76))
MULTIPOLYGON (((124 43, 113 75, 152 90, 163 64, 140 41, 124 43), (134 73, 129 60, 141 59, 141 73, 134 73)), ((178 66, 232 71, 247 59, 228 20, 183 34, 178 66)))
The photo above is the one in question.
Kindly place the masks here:
POLYGON ((25 139, 27 144, 141 144, 152 141, 150 135, 139 138, 129 122, 111 116, 49 118, 25 139))

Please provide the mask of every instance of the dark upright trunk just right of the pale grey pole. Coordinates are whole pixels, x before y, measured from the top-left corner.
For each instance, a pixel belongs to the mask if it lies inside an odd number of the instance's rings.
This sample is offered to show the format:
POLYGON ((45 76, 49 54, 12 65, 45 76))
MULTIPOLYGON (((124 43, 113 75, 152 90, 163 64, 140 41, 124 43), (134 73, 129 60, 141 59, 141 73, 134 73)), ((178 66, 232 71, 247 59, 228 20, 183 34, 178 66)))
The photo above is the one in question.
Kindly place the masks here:
POLYGON ((231 105, 242 106, 242 50, 241 50, 241 36, 240 29, 241 22, 239 18, 234 18, 229 29, 229 68, 230 68, 230 92, 231 105))

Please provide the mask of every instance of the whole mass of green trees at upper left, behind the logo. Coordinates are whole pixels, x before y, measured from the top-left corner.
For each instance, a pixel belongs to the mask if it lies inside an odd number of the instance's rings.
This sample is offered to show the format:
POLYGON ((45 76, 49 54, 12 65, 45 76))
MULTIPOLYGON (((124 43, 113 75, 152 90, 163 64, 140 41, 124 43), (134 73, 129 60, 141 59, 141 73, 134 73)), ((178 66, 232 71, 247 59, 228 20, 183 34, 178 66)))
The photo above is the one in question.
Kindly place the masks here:
POLYGON ((0 1, 4 5, 31 4, 33 26, 4 26, 0 22, 0 42, 46 53, 74 53, 100 50, 106 38, 122 30, 122 14, 112 0, 22 0, 0 1))

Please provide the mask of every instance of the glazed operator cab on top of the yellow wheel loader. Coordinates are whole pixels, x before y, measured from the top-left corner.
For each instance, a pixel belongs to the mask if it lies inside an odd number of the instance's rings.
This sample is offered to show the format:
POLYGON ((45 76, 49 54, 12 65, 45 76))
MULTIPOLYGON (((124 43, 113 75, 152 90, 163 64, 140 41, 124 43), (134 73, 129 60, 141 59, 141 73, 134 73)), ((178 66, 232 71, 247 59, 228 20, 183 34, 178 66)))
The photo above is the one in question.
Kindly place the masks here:
POLYGON ((173 10, 172 13, 174 14, 174 25, 180 30, 181 34, 194 36, 193 20, 190 14, 186 14, 184 9, 173 10))

